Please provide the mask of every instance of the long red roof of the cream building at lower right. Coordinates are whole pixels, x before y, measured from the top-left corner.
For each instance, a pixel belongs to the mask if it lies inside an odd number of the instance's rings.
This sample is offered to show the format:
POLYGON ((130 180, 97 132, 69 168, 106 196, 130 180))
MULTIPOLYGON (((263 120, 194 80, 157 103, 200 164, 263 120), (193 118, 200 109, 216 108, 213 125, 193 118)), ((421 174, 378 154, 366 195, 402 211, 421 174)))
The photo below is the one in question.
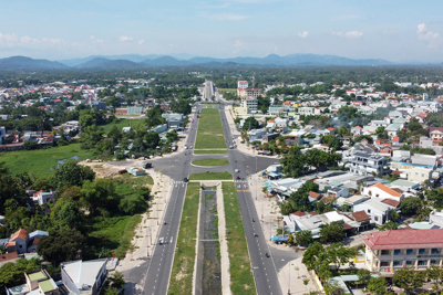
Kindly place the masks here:
POLYGON ((443 230, 391 230, 368 233, 363 242, 370 249, 443 247, 443 230))

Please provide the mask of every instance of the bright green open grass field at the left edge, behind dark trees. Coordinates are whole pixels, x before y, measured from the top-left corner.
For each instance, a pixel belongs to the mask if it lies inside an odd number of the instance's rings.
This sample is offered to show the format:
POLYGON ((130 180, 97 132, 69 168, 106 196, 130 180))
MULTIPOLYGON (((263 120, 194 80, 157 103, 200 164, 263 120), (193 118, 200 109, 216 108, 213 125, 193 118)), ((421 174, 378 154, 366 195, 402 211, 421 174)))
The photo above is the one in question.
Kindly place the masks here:
POLYGON ((4 161, 13 175, 31 172, 40 178, 51 176, 53 173, 51 168, 56 166, 59 160, 74 156, 78 156, 79 160, 93 158, 92 150, 81 149, 80 144, 72 144, 48 149, 2 152, 0 154, 0 161, 4 161))

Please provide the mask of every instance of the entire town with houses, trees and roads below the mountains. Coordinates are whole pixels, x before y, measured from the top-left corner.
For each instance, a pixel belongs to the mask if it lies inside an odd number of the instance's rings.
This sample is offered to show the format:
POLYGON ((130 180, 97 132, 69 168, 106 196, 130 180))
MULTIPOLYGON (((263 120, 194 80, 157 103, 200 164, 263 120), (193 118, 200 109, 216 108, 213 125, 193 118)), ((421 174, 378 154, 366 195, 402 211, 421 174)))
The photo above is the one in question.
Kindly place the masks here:
POLYGON ((416 71, 1 72, 1 293, 441 292, 416 71))

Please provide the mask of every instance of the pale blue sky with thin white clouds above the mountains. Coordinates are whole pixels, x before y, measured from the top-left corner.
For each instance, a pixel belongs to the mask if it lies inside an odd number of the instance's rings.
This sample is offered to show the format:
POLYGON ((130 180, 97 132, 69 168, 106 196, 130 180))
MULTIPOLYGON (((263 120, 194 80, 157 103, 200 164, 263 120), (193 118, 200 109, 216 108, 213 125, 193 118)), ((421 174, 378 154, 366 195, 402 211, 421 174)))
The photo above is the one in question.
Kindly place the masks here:
POLYGON ((0 57, 333 54, 443 62, 441 0, 13 0, 0 57))

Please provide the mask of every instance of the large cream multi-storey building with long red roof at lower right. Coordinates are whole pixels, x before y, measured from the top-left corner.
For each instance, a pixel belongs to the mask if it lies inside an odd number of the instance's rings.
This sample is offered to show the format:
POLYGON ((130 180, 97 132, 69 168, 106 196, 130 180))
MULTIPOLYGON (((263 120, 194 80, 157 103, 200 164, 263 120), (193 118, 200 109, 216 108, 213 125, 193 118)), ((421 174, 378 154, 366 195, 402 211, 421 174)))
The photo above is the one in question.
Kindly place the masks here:
POLYGON ((389 275, 403 267, 420 271, 442 266, 443 229, 373 232, 363 242, 370 272, 389 275))

